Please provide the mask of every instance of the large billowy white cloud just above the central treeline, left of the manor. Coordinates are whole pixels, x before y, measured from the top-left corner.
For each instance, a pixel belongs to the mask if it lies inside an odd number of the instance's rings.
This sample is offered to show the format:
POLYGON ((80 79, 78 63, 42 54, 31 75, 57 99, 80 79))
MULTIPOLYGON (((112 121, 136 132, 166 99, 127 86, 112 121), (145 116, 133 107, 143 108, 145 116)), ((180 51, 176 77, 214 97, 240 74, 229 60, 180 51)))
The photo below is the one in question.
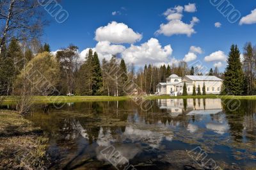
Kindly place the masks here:
MULTIPOLYGON (((150 38, 148 42, 141 45, 131 45, 131 47, 122 52, 122 57, 125 59, 125 62, 134 63, 139 66, 145 64, 161 65, 172 60, 170 58, 172 52, 171 45, 162 47, 156 38, 150 38)), ((173 61, 175 61, 174 58, 173 61)))

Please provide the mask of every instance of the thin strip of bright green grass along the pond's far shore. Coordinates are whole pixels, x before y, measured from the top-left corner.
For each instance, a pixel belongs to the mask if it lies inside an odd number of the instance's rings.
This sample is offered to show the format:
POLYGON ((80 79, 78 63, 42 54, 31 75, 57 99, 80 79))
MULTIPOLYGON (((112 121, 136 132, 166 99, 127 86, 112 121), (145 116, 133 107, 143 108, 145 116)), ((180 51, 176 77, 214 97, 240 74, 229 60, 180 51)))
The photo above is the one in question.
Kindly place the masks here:
MULTIPOLYGON (((146 100, 156 100, 156 99, 164 99, 164 98, 223 98, 223 99, 248 99, 248 100, 256 100, 256 96, 222 96, 222 95, 188 95, 188 96, 178 96, 178 97, 170 97, 169 95, 163 96, 145 96, 143 97, 146 100)), ((31 99, 31 101, 35 103, 65 103, 65 102, 104 102, 104 101, 118 101, 118 100, 131 100, 132 97, 124 96, 124 97, 108 97, 108 96, 51 96, 51 97, 40 97, 35 96, 31 99)), ((11 104, 15 102, 15 97, 8 97, 4 100, 4 104, 11 104)))

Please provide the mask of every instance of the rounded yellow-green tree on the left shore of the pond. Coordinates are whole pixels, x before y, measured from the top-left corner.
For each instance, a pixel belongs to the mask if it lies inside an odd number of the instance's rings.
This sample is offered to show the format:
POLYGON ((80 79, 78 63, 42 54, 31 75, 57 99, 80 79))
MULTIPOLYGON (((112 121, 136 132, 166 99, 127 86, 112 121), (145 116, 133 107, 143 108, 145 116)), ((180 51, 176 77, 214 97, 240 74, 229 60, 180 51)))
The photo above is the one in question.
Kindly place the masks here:
POLYGON ((60 66, 49 52, 38 54, 21 70, 15 82, 17 110, 26 114, 35 95, 53 95, 60 78, 60 66))

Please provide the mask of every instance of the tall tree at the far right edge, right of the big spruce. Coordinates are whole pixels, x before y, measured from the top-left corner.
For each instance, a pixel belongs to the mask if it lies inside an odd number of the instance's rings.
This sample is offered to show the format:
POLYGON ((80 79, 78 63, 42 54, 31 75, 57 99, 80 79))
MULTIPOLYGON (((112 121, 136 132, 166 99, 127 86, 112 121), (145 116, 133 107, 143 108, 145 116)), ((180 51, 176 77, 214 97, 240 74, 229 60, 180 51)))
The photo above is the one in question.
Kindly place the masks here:
POLYGON ((255 89, 255 52, 252 47, 252 43, 246 43, 244 45, 244 61, 243 61, 243 68, 244 68, 244 89, 246 95, 253 95, 255 89))

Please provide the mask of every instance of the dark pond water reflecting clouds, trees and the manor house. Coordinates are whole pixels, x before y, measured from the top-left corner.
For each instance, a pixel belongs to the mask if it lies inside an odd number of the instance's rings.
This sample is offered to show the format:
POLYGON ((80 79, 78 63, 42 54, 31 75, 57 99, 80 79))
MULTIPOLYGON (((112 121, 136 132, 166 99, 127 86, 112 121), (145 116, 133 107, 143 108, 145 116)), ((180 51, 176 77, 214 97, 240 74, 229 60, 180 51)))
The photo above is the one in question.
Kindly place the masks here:
POLYGON ((50 135, 51 169, 256 167, 256 101, 152 100, 38 105, 28 119, 50 135))

